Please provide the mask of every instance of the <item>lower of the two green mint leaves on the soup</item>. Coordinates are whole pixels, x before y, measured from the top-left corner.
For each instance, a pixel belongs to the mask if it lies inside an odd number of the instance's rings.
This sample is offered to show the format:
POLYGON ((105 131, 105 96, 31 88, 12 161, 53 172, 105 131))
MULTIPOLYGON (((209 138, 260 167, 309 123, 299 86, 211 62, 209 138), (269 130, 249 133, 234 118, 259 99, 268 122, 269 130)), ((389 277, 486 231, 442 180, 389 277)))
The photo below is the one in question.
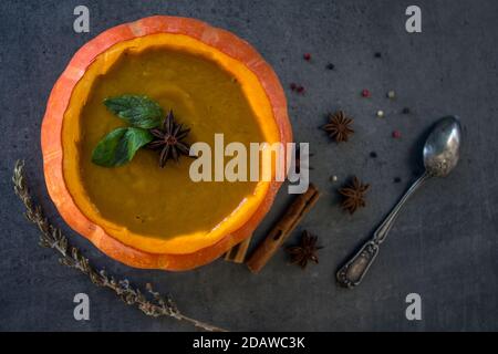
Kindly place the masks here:
POLYGON ((103 167, 122 166, 132 160, 135 153, 151 143, 154 136, 142 128, 117 128, 107 134, 92 153, 92 162, 103 167))

